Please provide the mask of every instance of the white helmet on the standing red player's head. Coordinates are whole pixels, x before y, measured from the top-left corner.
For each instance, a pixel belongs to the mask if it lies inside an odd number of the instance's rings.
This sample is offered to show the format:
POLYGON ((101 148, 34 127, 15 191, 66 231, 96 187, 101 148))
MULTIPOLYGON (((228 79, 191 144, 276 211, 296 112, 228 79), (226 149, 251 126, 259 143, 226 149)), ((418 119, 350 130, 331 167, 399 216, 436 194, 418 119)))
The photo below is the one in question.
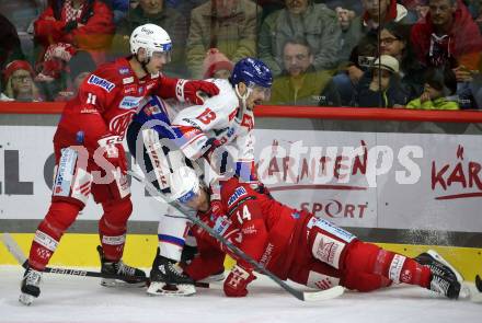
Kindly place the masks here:
POLYGON ((163 28, 154 24, 144 24, 136 27, 130 34, 129 43, 133 55, 136 55, 139 48, 144 48, 148 58, 151 58, 153 53, 170 53, 172 50, 171 37, 163 28))

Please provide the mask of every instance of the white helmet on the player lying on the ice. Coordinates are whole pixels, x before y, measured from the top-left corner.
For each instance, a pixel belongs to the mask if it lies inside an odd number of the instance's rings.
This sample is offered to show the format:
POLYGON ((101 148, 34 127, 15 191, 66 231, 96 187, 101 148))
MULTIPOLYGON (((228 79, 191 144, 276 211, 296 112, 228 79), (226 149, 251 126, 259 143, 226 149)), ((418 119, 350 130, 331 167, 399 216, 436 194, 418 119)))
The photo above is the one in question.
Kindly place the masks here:
POLYGON ((187 204, 200 193, 200 182, 196 172, 188 166, 176 169, 171 174, 171 198, 187 204))

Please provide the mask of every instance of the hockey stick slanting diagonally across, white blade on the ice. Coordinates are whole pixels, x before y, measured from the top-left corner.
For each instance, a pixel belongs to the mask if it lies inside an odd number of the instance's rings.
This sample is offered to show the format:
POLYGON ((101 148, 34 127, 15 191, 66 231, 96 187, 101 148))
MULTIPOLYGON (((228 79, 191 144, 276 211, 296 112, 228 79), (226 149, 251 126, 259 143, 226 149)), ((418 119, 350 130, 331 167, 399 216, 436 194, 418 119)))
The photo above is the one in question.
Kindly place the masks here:
POLYGON ((222 244, 225 244, 229 250, 231 250, 231 252, 233 254, 236 254, 238 257, 242 258, 243 261, 248 262, 250 265, 252 265, 257 272, 260 272, 261 274, 266 275, 267 277, 269 277, 273 281, 275 281, 277 285, 279 285, 283 289, 285 289, 287 292, 289 292, 290 295, 292 295, 294 297, 296 297, 297 299, 301 300, 301 301, 320 301, 320 300, 329 300, 329 299, 333 299, 336 298, 341 295, 343 295, 343 292, 345 291, 345 289, 342 286, 335 286, 332 287, 330 289, 326 290, 321 290, 321 291, 300 291, 297 290, 295 288, 292 288, 291 286, 289 286, 288 284, 286 284, 285 281, 283 281, 282 279, 279 279, 277 276, 275 276, 273 273, 271 273, 268 269, 266 269, 265 267, 263 267, 260 263, 257 263, 255 259, 253 259, 251 256, 249 256, 248 254, 245 254, 242 250, 240 250, 239 247, 237 247, 236 245, 233 245, 231 242, 229 242, 228 240, 226 240, 222 235, 218 234, 215 230, 213 230, 209 226, 207 226, 205 222, 203 222, 202 220, 199 220, 196 216, 192 216, 188 212, 183 211, 176 203, 170 201, 170 199, 165 198, 163 196, 162 193, 160 193, 153 185, 152 183, 146 181, 146 178, 133 171, 128 171, 127 172, 130 176, 133 176, 134 178, 136 178, 137 181, 139 181, 140 183, 142 183, 146 188, 149 191, 149 193, 151 194, 151 196, 161 203, 167 203, 170 206, 172 206, 173 208, 175 208, 180 214, 184 215, 188 220, 191 220, 193 223, 195 223, 196 226, 199 226, 200 228, 203 228, 206 232, 208 232, 210 235, 213 235, 214 238, 216 238, 217 240, 219 240, 222 244))

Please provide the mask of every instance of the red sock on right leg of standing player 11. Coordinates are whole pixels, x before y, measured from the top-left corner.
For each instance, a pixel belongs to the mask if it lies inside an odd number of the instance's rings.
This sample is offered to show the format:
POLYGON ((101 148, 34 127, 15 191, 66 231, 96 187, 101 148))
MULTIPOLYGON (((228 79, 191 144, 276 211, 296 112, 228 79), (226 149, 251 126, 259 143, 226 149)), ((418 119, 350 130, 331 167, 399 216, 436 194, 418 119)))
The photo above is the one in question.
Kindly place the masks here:
POLYGON ((133 212, 130 198, 124 198, 112 203, 103 203, 104 215, 99 221, 99 234, 101 235, 104 257, 108 261, 119 261, 124 253, 126 241, 127 219, 133 212))

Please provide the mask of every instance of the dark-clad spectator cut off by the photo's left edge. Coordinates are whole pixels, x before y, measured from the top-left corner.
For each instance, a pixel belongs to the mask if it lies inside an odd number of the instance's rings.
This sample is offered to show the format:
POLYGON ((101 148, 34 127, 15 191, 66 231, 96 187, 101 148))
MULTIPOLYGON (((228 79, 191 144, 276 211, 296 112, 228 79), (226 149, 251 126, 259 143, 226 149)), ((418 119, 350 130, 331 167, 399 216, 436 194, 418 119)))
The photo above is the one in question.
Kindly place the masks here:
POLYGON ((23 58, 15 26, 0 13, 0 70, 4 69, 8 61, 23 58))

